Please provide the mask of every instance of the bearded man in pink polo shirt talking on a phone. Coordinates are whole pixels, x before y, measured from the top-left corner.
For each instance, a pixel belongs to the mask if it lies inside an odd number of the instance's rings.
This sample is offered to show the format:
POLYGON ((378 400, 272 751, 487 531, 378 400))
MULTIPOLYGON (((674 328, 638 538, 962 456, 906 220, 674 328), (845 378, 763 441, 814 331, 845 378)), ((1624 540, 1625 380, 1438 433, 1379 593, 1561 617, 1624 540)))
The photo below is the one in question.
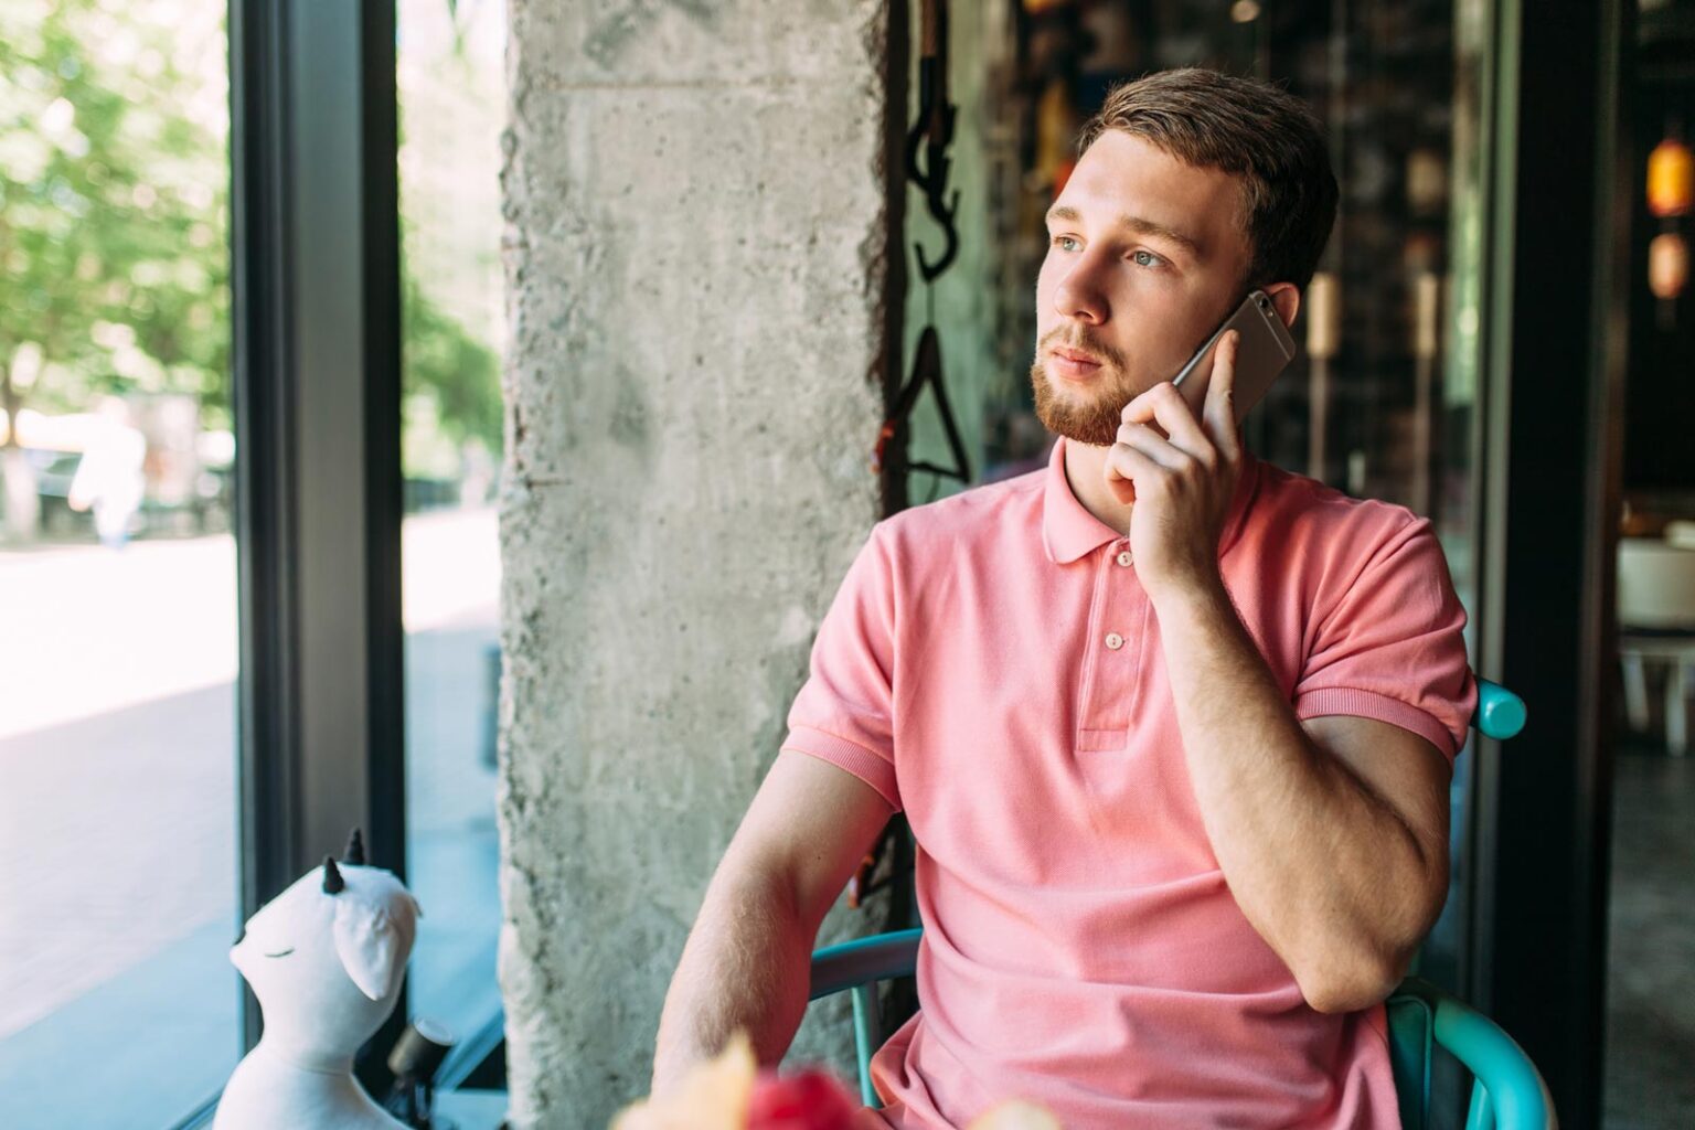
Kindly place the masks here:
POLYGON ((666 998, 656 1089, 746 1027, 786 1050, 817 927, 895 810, 920 1011, 892 1127, 1003 1098, 1070 1130, 1397 1125, 1383 998, 1448 888, 1476 703, 1425 518, 1244 452, 1251 288, 1293 324, 1336 212, 1285 91, 1185 69, 1112 93, 1049 212, 1046 471, 880 522, 666 998), (1127 534, 1125 534, 1127 532, 1127 534))

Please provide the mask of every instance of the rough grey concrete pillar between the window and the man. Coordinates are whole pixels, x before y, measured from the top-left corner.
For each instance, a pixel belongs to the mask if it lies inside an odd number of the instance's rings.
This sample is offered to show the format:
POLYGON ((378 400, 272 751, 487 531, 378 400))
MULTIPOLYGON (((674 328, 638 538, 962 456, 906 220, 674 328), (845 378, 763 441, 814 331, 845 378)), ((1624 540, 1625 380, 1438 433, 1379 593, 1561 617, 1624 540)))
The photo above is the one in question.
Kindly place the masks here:
MULTIPOLYGON (((646 1091, 707 878, 878 517, 886 19, 512 0, 515 1127, 605 1127, 646 1091)), ((837 911, 825 932, 873 925, 837 911)))

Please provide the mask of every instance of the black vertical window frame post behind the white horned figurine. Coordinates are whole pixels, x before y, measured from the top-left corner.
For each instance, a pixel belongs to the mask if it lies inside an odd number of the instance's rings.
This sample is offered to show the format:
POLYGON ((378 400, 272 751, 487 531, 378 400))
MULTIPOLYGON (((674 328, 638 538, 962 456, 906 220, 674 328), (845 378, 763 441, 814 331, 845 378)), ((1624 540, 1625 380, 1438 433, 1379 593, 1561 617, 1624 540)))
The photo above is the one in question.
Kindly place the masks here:
MULTIPOLYGON (((407 878, 397 10, 231 0, 229 59, 246 918, 354 825, 407 878)), ((444 1084, 500 1042, 498 994, 464 998, 490 1015, 444 1084)), ((373 1091, 407 1011, 361 1055, 373 1091)))

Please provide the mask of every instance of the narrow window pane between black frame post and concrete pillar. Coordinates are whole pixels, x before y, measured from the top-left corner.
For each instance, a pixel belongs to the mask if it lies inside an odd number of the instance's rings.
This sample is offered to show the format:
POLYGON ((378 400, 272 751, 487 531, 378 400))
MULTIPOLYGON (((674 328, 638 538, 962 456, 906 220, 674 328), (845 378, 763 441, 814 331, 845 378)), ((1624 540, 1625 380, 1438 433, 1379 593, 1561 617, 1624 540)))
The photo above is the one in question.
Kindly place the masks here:
POLYGON ((402 0, 402 461, 412 1011, 461 1037, 498 1008, 500 130, 505 10, 402 0))

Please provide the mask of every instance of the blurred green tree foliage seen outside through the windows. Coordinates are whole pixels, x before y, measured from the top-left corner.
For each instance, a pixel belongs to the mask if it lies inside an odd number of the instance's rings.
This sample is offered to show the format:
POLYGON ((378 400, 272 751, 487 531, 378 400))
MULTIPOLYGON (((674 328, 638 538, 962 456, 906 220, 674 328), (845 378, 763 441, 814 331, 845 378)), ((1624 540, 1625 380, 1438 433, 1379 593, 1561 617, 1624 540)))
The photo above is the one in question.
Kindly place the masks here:
MULTIPOLYGON (((229 427, 222 10, 0 0, 0 388, 10 405, 81 412, 102 393, 180 391, 200 398, 205 427, 229 427)), ((410 273, 402 291, 407 418, 447 444, 498 451, 498 356, 410 273)))

